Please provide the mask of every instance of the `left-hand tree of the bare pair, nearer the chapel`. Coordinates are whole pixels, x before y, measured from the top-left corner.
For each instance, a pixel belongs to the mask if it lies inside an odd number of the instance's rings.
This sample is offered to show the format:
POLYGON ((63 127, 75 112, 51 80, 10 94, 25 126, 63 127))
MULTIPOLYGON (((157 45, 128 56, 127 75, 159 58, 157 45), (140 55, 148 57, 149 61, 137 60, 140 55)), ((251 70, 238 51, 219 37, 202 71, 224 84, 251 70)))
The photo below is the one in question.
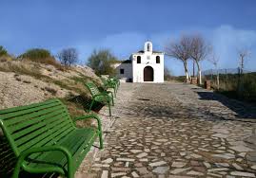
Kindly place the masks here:
POLYGON ((191 80, 187 69, 187 61, 190 58, 190 48, 191 39, 189 36, 183 36, 179 41, 171 43, 166 46, 167 56, 170 56, 183 62, 187 82, 191 80))

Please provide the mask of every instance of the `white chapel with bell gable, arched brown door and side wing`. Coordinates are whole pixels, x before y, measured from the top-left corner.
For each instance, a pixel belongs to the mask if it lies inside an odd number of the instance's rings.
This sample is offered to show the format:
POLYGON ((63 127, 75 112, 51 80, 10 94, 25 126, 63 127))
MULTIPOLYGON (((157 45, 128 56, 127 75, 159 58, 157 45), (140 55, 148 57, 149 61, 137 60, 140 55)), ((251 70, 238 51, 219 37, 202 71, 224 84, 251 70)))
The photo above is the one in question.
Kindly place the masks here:
POLYGON ((129 60, 114 64, 117 77, 132 82, 164 82, 164 53, 153 51, 151 42, 132 53, 129 60))

